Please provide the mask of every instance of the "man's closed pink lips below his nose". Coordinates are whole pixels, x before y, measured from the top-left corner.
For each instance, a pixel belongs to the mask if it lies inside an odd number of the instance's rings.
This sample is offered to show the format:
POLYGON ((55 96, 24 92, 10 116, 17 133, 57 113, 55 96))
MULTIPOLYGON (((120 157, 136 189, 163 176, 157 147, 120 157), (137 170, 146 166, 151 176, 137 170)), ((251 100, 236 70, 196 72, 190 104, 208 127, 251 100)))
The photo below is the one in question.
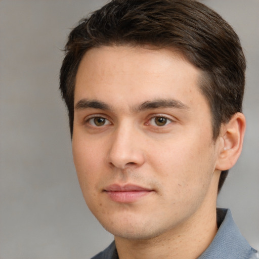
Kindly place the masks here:
POLYGON ((141 197, 148 195, 153 190, 143 188, 136 185, 124 185, 117 184, 110 185, 104 190, 109 198, 115 202, 132 203, 139 200, 141 197))

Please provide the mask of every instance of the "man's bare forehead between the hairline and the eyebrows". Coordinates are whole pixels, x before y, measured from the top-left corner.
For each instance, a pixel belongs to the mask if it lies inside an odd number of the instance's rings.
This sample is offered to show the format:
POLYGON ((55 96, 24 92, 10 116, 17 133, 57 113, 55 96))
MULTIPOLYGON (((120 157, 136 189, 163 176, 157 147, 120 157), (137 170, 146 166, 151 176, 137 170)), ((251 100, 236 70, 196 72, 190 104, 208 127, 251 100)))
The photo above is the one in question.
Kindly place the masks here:
POLYGON ((179 53, 168 49, 100 47, 88 51, 75 81, 75 104, 80 99, 134 104, 154 98, 192 103, 203 98, 201 71, 179 53))

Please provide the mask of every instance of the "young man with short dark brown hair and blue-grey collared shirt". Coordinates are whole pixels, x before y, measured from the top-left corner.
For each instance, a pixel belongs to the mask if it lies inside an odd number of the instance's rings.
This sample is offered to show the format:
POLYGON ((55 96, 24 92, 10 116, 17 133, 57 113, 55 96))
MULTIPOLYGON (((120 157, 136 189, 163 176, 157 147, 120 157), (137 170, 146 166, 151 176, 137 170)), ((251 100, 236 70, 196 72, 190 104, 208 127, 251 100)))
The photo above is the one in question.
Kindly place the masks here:
POLYGON ((94 258, 256 258, 217 194, 237 161, 245 58, 192 0, 113 0, 69 35, 60 74, 94 258))

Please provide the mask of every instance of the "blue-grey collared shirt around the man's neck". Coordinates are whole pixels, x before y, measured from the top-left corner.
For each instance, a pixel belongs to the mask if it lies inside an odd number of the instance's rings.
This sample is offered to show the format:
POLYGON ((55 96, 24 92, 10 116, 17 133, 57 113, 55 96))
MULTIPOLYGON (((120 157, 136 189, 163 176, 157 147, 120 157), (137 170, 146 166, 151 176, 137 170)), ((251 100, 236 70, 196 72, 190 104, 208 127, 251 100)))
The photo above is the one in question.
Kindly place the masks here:
MULTIPOLYGON (((197 259, 259 259, 259 253, 253 249, 240 233, 229 209, 217 209, 219 230, 208 248, 197 259)), ((118 259, 115 242, 92 259, 118 259)))

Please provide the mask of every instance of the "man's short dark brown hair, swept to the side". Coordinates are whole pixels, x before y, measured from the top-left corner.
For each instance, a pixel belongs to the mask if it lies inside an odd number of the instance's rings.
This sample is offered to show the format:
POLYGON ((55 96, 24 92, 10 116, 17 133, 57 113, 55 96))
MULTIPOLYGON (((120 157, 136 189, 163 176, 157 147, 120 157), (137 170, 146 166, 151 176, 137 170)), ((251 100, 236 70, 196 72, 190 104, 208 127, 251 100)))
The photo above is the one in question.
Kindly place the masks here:
MULTIPOLYGON (((201 71, 199 90, 211 112, 212 139, 242 110, 245 58, 240 41, 220 15, 193 0, 114 0, 71 31, 60 89, 73 138, 74 90, 79 64, 94 48, 108 46, 171 50, 201 71)), ((221 173, 219 190, 228 170, 221 173)))

